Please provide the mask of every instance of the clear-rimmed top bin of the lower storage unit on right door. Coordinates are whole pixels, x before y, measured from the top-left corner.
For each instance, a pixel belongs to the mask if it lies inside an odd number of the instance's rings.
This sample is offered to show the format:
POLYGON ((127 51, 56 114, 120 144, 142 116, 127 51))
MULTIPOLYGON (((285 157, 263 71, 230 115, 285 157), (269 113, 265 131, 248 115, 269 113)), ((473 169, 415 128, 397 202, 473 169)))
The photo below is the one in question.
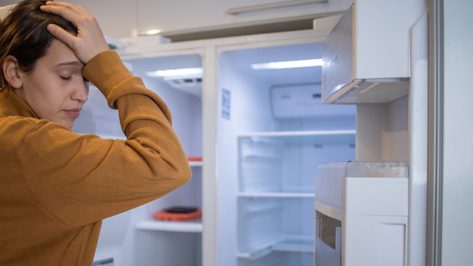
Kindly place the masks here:
POLYGON ((344 214, 407 215, 406 162, 317 166, 315 201, 344 214))

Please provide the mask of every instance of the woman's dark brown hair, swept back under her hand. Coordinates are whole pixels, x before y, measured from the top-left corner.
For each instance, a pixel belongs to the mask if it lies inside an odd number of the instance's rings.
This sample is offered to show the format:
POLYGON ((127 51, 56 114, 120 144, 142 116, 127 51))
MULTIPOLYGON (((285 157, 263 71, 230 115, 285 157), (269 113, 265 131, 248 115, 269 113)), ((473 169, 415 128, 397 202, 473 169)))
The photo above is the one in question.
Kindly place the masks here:
MULTIPOLYGON (((30 72, 36 61, 46 55, 53 35, 47 30, 55 24, 67 32, 77 35, 77 28, 68 20, 52 13, 41 11, 46 0, 25 0, 19 2, 11 13, 0 22, 0 62, 12 55, 17 59, 22 71, 30 72)), ((3 67, 0 67, 0 92, 9 89, 3 67)))

